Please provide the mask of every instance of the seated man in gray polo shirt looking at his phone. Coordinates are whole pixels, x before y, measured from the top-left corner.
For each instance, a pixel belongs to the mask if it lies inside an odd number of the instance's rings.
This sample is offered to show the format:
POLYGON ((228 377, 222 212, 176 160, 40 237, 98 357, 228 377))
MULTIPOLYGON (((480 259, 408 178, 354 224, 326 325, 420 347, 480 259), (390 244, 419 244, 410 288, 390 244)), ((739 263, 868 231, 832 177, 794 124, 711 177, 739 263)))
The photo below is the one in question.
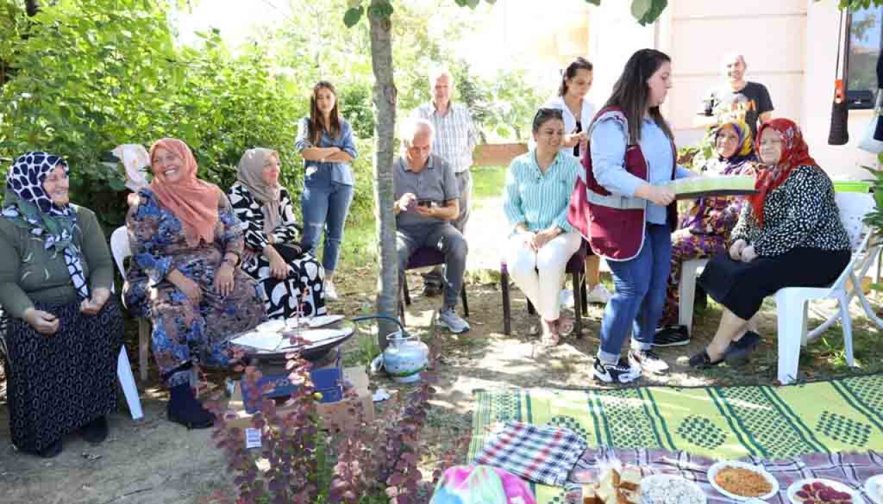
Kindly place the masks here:
POLYGON ((396 252, 404 271, 411 253, 434 247, 445 256, 444 302, 439 324, 451 332, 469 330, 457 315, 457 298, 466 270, 466 240, 452 225, 460 214, 457 177, 450 164, 432 154, 433 124, 411 119, 402 132, 403 155, 393 166, 396 187, 396 252))

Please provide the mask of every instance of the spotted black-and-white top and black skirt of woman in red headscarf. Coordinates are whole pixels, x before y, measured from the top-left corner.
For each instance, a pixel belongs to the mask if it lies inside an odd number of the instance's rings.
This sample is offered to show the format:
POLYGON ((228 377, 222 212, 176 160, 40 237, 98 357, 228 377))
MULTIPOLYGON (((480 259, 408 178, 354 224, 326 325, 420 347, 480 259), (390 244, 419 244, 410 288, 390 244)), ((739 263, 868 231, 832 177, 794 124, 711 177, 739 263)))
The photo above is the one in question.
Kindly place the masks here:
POLYGON ((849 263, 849 235, 834 201, 834 184, 818 166, 798 166, 764 202, 764 225, 751 205, 742 208, 730 235, 745 240, 758 258, 711 260, 699 277, 709 296, 743 320, 758 312, 764 297, 784 287, 824 287, 849 263))

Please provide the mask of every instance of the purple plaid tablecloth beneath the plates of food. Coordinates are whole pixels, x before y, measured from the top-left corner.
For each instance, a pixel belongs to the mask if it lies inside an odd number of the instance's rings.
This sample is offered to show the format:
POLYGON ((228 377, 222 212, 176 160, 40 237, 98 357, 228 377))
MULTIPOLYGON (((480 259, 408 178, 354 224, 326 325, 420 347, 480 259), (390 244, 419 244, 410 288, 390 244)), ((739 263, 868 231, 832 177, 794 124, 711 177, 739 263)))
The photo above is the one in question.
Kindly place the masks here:
MULTIPOLYGON (((763 467, 779 481, 779 494, 767 500, 778 504, 789 504, 788 487, 804 478, 839 481, 849 486, 870 504, 874 500, 870 500, 864 493, 864 482, 872 476, 883 473, 883 454, 873 451, 802 455, 777 460, 751 456, 741 460, 763 467)), ((601 468, 614 461, 638 466, 642 476, 673 474, 686 478, 702 488, 708 502, 733 501, 718 493, 708 483, 708 468, 716 462, 710 458, 685 452, 619 448, 592 448, 580 457, 570 474, 569 482, 565 485, 568 489, 568 500, 582 502, 579 484, 596 480, 601 468)))

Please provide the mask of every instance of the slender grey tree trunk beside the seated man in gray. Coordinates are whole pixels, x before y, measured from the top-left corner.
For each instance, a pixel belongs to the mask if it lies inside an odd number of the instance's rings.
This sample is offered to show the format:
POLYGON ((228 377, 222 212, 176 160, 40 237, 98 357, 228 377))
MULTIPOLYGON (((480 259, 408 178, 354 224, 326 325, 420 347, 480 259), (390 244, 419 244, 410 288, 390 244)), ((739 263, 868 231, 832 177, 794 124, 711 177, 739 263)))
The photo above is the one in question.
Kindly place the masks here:
MULTIPOLYGON (((381 4, 383 0, 372 0, 381 4)), ((396 215, 393 201, 392 162, 395 152, 396 84, 393 82, 391 23, 368 9, 371 24, 371 63, 374 70, 374 213, 377 222, 380 276, 377 285, 377 312, 396 317, 398 260, 396 258, 396 215)), ((389 321, 379 323, 378 342, 387 346, 386 336, 398 327, 389 321)))

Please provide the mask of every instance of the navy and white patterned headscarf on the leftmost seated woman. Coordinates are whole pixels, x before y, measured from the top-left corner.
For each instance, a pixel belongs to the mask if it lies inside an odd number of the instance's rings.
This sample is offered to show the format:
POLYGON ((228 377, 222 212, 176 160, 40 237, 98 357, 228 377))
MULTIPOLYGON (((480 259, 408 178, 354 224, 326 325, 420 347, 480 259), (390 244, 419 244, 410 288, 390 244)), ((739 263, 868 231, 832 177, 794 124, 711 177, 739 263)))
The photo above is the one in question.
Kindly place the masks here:
POLYGON ((57 166, 67 162, 55 154, 28 152, 12 162, 6 174, 3 216, 19 228, 29 229, 35 237, 46 240, 46 249, 64 252, 64 264, 79 297, 89 297, 86 277, 83 275, 82 252, 73 242, 77 228, 77 214, 70 205, 57 206, 43 190, 43 182, 57 166))

